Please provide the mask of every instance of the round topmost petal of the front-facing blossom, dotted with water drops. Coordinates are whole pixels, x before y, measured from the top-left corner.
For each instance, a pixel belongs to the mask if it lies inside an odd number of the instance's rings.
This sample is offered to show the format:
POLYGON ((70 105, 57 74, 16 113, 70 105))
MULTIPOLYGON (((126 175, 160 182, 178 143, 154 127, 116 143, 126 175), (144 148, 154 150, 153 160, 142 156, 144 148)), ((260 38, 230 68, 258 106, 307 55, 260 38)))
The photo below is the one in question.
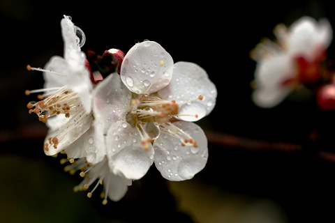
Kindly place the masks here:
POLYGON ((173 59, 161 45, 144 41, 133 46, 121 66, 121 79, 134 93, 154 93, 170 82, 173 59))

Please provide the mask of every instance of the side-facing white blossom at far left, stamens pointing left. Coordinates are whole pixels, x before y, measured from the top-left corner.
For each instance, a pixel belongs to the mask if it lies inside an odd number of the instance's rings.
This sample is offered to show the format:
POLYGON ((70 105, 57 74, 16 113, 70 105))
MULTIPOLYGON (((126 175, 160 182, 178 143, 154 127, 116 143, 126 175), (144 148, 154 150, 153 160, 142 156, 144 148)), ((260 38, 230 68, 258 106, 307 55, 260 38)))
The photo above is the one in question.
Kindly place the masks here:
POLYGON ((49 127, 43 146, 47 155, 59 153, 72 144, 89 129, 93 120, 90 72, 80 49, 83 40, 77 36, 84 38, 84 33, 65 15, 61 20, 61 30, 64 58, 53 56, 45 70, 27 66, 29 70, 44 71, 45 89, 30 93, 44 91, 45 99, 29 103, 28 107, 31 108, 30 113, 38 114, 40 121, 49 127))

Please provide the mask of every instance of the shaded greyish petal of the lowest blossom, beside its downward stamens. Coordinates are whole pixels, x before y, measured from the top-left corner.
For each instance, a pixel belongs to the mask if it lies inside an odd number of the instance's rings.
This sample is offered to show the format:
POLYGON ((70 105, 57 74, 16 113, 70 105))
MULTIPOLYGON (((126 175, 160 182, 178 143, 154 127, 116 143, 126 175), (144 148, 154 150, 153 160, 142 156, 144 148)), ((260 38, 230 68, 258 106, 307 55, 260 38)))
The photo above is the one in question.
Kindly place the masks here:
POLYGON ((108 191, 108 197, 112 201, 119 201, 122 197, 124 197, 124 194, 126 194, 128 190, 128 186, 124 183, 124 180, 120 176, 114 175, 114 174, 107 174, 105 176, 105 187, 108 185, 108 189, 105 188, 106 191, 108 191))

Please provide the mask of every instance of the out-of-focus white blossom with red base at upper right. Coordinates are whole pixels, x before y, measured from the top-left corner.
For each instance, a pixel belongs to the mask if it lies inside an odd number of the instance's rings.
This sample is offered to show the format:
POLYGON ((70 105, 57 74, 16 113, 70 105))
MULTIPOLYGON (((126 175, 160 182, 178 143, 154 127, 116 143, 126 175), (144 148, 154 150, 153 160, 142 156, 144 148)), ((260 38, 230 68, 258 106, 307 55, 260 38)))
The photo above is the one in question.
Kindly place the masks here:
POLYGON ((329 22, 311 17, 301 17, 288 29, 278 25, 275 34, 278 44, 265 40, 252 54, 258 62, 253 101, 260 107, 274 107, 300 84, 318 82, 332 40, 329 22))

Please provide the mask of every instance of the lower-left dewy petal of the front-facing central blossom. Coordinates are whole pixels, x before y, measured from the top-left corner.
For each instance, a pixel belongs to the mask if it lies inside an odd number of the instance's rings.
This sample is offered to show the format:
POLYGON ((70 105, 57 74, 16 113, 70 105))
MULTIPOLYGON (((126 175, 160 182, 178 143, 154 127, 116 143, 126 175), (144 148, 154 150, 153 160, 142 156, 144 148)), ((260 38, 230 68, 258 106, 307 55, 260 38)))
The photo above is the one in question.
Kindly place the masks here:
POLYGON ((142 178, 154 162, 154 149, 144 150, 135 128, 124 121, 114 123, 107 134, 108 164, 114 174, 128 179, 142 178))

